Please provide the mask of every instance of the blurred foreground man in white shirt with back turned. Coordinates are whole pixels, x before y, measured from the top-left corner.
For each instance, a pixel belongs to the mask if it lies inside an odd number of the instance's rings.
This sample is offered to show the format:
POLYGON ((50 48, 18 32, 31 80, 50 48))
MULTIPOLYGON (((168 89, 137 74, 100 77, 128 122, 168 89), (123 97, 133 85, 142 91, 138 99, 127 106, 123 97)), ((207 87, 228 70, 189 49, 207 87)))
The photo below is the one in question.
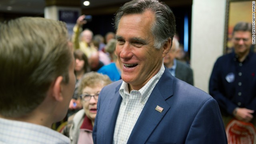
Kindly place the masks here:
POLYGON ((69 144, 50 129, 75 86, 66 25, 23 17, 0 24, 0 143, 69 144))

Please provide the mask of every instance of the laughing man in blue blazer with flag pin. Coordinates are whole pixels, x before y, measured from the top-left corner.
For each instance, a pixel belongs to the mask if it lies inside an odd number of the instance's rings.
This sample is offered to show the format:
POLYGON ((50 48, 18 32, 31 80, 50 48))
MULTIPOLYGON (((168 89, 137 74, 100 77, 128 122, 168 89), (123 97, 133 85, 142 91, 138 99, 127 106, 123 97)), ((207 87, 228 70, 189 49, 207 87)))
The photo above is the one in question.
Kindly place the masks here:
POLYGON ((227 144, 216 100, 163 65, 176 28, 172 10, 133 0, 116 13, 115 28, 122 80, 100 92, 94 144, 227 144))

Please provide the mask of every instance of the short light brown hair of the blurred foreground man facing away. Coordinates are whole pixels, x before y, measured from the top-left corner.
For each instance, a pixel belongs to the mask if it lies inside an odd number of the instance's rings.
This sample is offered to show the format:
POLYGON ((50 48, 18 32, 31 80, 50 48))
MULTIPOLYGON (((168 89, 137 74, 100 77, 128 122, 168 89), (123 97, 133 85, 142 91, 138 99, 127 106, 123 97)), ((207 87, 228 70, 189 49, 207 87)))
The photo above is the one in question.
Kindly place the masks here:
POLYGON ((22 17, 0 24, 0 115, 20 117, 38 107, 71 62, 63 22, 22 17))

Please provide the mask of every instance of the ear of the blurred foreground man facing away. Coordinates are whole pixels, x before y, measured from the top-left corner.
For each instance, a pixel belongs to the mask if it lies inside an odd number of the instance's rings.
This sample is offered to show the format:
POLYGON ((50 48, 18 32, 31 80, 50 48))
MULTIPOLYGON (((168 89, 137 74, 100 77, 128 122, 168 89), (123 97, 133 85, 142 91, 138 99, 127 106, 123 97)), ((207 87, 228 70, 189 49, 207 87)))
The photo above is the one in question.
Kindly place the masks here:
POLYGON ((62 76, 58 76, 53 84, 53 97, 56 101, 61 102, 63 100, 62 96, 62 76))

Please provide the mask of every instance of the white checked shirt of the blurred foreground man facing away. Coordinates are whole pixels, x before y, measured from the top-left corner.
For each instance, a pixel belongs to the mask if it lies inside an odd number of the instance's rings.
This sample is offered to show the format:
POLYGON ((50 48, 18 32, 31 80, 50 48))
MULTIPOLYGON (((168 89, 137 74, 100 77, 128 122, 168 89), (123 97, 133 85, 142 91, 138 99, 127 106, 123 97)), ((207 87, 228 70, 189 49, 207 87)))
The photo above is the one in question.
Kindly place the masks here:
POLYGON ((0 143, 70 144, 69 138, 60 132, 38 124, 0 118, 0 128, 0 143))

